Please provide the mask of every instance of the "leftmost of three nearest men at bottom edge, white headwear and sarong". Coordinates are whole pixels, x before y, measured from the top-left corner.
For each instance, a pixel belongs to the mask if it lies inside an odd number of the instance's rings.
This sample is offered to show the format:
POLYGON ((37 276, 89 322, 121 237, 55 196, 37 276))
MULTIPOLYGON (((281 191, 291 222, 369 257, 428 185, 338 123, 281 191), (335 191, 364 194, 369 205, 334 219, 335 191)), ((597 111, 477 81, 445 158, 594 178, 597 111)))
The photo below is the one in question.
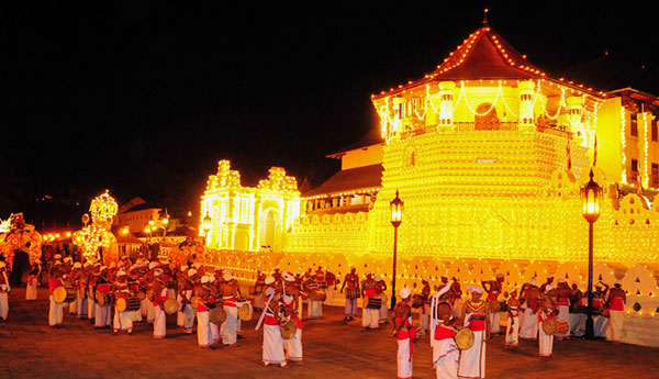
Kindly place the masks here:
POLYGON ((412 379, 412 344, 415 328, 412 325, 412 308, 410 298, 412 291, 407 286, 401 290, 401 301, 393 309, 393 333, 398 341, 396 375, 399 379, 412 379))

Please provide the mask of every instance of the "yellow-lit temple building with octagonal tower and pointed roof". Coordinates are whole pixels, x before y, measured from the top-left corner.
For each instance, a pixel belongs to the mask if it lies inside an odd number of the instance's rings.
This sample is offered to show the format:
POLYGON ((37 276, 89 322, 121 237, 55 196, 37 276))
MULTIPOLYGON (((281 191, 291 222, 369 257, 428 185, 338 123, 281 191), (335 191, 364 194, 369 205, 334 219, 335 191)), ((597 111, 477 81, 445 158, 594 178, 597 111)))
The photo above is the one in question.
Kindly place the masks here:
POLYGON ((389 203, 398 190, 402 285, 494 272, 507 286, 549 272, 583 285, 588 223, 579 190, 596 159, 604 201, 594 224, 595 279, 623 280, 628 312, 657 312, 657 97, 552 77, 485 24, 433 73, 371 100, 379 130, 328 155, 342 160, 340 171, 300 194, 299 216, 280 221, 280 255, 254 258, 259 265, 323 264, 345 274, 354 264, 390 277, 389 203))

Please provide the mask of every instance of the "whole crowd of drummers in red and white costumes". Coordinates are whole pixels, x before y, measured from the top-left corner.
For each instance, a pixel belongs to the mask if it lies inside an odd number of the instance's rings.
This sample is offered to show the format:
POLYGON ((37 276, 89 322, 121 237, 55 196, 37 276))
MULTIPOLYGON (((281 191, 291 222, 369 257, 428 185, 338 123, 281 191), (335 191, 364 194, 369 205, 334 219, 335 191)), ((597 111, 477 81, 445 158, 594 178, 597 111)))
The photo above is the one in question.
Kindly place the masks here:
MULTIPOLYGON (((399 378, 412 377, 412 346, 425 335, 429 335, 437 378, 484 378, 485 346, 494 334, 504 334, 506 349, 517 348, 520 338, 537 341, 538 355, 547 359, 555 337, 560 341, 585 332, 588 294, 576 282, 570 286, 562 278, 555 282, 551 275, 539 286, 534 278, 522 288, 504 291, 505 277, 499 274, 494 280, 466 287, 465 292, 458 278, 449 281, 443 276, 434 288, 423 278, 418 293, 407 287, 400 290, 390 319, 386 281, 372 272, 360 277, 355 267, 344 278, 322 267, 304 274, 258 270, 248 301, 231 270, 200 263, 172 267, 167 260, 148 261, 141 255, 135 261, 125 258, 103 266, 56 255, 51 266, 48 324, 53 327, 62 325, 68 308, 70 314, 89 320, 97 328, 111 327, 114 334, 131 334, 134 323, 146 321, 153 324, 154 338, 164 338, 166 316, 176 314, 183 333, 197 332, 199 347, 235 347, 241 322, 250 320, 257 310, 265 365, 302 361, 303 303, 308 304, 306 319, 322 319, 323 303, 339 293, 345 297, 346 324, 359 316, 359 308, 366 330, 391 323, 398 341, 399 378), (414 313, 418 323, 413 322, 414 313), (503 331, 501 317, 505 317, 503 331)), ((36 299, 42 274, 37 260, 27 277, 25 299, 36 299)), ((0 319, 4 321, 10 291, 8 268, 0 261, 0 319)), ((595 336, 619 343, 625 291, 619 283, 610 288, 597 282, 592 298, 595 336)))

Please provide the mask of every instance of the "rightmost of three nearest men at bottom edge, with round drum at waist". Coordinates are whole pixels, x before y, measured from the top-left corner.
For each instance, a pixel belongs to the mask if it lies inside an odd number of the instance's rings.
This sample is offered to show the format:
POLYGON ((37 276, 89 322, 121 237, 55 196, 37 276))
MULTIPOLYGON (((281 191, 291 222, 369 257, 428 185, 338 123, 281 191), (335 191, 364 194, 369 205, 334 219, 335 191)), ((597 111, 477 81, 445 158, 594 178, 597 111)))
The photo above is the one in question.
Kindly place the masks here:
POLYGON ((490 310, 488 302, 481 299, 483 290, 479 287, 467 287, 471 291, 471 300, 462 305, 460 319, 465 327, 473 332, 473 345, 460 354, 458 376, 465 378, 485 377, 485 342, 490 339, 490 310))

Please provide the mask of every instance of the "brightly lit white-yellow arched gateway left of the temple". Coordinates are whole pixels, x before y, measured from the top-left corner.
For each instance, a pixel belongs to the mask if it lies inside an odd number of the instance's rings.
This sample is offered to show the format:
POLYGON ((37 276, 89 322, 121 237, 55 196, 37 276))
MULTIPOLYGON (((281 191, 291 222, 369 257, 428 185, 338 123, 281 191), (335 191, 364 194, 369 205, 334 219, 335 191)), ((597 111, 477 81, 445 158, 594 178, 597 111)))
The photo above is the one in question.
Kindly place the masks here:
MULTIPOLYGON (((220 160, 201 198, 201 221, 211 219, 206 245, 212 248, 278 252, 282 234, 300 215, 300 191, 295 178, 281 167, 270 168, 256 188, 243 187, 241 174, 228 160, 220 160)), ((200 226, 200 236, 204 236, 200 226)))

